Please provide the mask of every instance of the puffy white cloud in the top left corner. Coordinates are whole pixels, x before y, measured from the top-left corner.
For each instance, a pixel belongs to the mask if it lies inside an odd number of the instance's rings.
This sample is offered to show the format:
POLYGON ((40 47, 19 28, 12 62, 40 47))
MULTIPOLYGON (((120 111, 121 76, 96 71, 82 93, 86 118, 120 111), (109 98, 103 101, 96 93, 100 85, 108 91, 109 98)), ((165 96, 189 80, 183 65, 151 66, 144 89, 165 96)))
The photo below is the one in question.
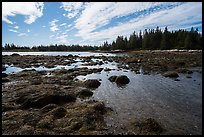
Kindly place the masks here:
POLYGON ((16 14, 25 16, 25 23, 31 24, 43 15, 43 2, 2 2, 2 21, 13 24, 8 19, 16 14))

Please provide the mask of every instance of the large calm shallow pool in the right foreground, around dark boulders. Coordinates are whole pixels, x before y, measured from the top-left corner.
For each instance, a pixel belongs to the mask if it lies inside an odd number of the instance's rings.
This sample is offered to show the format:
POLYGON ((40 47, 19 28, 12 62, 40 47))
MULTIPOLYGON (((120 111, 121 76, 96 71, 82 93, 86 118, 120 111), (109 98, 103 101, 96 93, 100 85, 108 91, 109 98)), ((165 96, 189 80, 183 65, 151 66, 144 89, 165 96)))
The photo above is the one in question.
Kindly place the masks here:
POLYGON ((134 72, 102 71, 100 74, 78 76, 78 79, 101 79, 93 98, 102 100, 114 111, 107 117, 111 127, 127 129, 134 120, 154 118, 165 129, 162 134, 202 134, 202 74, 192 78, 179 74, 180 81, 157 75, 134 72), (108 78, 126 75, 130 83, 118 87, 108 78))

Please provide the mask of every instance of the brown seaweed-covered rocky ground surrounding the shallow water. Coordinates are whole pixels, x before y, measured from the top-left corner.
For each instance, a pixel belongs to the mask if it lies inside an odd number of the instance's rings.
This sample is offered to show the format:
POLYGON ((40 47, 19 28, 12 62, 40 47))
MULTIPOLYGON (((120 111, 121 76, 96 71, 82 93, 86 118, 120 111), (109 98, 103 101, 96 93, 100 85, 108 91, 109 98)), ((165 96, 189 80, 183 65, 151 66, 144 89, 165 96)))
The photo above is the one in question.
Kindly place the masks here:
MULTIPOLYGON (((100 79, 79 80, 77 76, 111 71, 110 68, 88 68, 86 66, 117 62, 118 68, 148 75, 159 73, 178 80, 178 73, 193 73, 188 68, 202 67, 202 52, 137 52, 130 56, 2 56, 2 71, 6 65, 20 68, 44 66, 50 70, 23 70, 14 74, 2 73, 2 134, 4 135, 81 135, 81 134, 162 134, 163 128, 157 121, 147 118, 133 122, 129 131, 111 132, 104 117, 112 108, 104 102, 94 100, 94 90, 100 79), (93 59, 97 61, 93 61, 93 59), (52 69, 57 65, 84 67, 52 69)), ((202 73, 202 71, 200 72, 202 73)), ((110 78, 116 83, 128 84, 123 76, 110 78), (117 80, 116 80, 117 79, 117 80), (119 82, 118 82, 119 81, 119 82)), ((190 78, 190 76, 189 76, 190 78)))

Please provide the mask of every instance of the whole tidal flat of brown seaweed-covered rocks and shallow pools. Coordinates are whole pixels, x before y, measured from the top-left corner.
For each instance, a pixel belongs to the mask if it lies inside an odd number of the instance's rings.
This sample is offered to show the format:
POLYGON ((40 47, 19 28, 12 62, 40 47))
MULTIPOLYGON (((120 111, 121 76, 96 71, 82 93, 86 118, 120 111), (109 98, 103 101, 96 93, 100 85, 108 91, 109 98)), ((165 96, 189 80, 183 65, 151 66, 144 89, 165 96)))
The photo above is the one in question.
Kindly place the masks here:
POLYGON ((2 134, 201 135, 202 51, 4 53, 2 134))

